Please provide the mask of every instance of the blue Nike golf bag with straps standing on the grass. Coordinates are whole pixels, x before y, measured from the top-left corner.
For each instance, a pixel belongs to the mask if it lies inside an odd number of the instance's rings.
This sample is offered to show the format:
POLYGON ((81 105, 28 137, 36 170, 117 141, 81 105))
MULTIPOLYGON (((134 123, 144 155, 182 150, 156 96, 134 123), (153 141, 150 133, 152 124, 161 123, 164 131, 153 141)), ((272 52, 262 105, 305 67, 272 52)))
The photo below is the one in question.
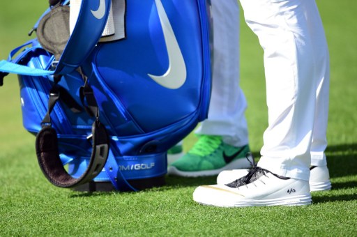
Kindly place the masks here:
POLYGON ((68 40, 55 43, 58 24, 69 32, 71 4, 52 2, 33 28, 37 38, 0 61, 1 85, 18 75, 23 125, 36 135, 43 174, 75 190, 163 185, 167 150, 208 113, 208 1, 82 0, 68 40), (107 40, 119 10, 123 37, 107 40))

